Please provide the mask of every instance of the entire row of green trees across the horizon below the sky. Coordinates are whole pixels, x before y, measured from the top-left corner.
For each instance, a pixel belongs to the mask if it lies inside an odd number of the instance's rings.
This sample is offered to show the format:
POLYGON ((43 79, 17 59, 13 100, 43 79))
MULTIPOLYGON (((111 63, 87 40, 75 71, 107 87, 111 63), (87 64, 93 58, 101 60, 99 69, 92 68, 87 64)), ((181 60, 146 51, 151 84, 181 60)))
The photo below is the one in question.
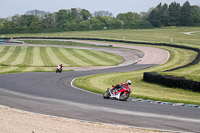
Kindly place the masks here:
POLYGON ((200 7, 187 1, 181 6, 172 2, 159 4, 148 12, 120 13, 116 17, 108 11, 91 14, 86 9, 71 8, 49 13, 39 10, 27 11, 0 19, 0 33, 41 33, 61 31, 87 31, 103 29, 136 29, 164 26, 200 26, 200 7))

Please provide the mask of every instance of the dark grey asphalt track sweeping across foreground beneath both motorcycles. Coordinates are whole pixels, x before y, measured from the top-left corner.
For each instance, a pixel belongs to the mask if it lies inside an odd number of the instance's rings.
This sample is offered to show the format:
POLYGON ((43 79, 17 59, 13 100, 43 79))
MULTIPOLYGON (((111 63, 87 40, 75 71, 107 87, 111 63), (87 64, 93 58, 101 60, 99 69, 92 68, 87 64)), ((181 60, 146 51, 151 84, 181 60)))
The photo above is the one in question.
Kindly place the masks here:
MULTIPOLYGON (((0 75, 0 104, 59 117, 180 132, 200 132, 200 110, 182 106, 103 99, 72 86, 77 77, 128 72, 156 64, 131 64, 90 71, 0 75)), ((133 90, 134 93, 134 90, 133 90)))

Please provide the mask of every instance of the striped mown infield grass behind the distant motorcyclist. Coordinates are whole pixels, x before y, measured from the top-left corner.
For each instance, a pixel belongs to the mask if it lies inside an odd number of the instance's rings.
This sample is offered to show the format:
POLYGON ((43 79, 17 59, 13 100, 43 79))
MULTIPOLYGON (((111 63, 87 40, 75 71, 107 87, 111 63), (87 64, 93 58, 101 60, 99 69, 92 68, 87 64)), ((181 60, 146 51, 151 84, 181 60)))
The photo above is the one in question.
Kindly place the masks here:
POLYGON ((0 73, 55 71, 64 67, 112 66, 123 58, 107 52, 55 47, 0 46, 0 73), (107 58, 104 60, 104 58, 107 58))

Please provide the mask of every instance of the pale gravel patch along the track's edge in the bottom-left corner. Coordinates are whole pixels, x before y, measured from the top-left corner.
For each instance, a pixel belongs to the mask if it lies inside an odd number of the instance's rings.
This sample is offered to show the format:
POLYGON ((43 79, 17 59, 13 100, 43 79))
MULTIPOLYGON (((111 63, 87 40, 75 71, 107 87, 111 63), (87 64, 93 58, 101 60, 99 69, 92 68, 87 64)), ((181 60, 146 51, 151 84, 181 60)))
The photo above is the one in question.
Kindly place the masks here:
POLYGON ((0 105, 2 133, 155 133, 156 130, 92 123, 29 113, 0 105))

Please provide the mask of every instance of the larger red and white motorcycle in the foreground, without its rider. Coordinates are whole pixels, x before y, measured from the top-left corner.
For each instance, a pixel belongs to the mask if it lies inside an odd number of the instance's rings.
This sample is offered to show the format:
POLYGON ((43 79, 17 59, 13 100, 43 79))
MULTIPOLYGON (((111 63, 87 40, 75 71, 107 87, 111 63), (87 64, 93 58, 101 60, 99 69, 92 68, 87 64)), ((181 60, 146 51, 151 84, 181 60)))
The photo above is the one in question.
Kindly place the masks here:
POLYGON ((131 88, 129 86, 120 86, 115 87, 113 86, 113 89, 110 90, 110 88, 107 89, 107 91, 103 94, 103 97, 105 99, 109 98, 116 98, 121 101, 126 101, 129 98, 129 95, 131 94, 131 88))

